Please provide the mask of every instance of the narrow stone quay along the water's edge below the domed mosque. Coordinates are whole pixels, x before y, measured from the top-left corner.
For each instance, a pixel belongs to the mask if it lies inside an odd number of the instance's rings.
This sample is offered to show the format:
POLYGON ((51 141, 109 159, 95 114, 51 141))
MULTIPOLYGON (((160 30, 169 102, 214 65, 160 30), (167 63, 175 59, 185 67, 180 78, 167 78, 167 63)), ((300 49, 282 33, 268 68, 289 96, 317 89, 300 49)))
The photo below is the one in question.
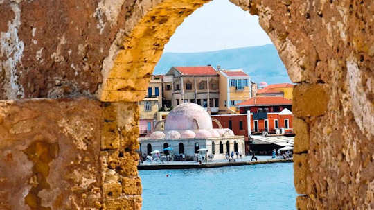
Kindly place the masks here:
POLYGON ((145 161, 139 164, 139 170, 161 170, 161 169, 190 169, 190 168, 217 168, 225 166, 244 166, 254 164, 272 164, 281 162, 292 162, 290 159, 271 159, 271 156, 256 156, 257 161, 251 161, 251 156, 243 157, 242 159, 235 159, 235 161, 216 160, 216 161, 203 161, 202 164, 196 161, 164 161, 163 163, 145 161))

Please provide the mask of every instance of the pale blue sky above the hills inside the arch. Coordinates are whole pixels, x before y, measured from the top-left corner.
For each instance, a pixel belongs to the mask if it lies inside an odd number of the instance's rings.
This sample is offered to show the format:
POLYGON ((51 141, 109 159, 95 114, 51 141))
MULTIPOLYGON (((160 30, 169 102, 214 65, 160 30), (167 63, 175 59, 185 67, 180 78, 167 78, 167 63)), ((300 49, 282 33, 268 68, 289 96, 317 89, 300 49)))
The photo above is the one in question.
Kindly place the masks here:
POLYGON ((258 17, 228 0, 213 0, 181 24, 164 52, 204 52, 271 44, 258 17))

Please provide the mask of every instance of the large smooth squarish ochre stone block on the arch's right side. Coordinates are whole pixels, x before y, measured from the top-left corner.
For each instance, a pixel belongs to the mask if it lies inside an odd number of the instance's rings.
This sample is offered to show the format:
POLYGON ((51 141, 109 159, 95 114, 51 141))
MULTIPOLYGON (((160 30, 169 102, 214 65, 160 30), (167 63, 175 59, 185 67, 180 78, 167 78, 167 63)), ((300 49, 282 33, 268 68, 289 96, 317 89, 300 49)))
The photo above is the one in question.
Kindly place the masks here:
POLYGON ((296 85, 293 96, 292 112, 294 116, 322 116, 327 110, 329 96, 323 85, 296 85))

